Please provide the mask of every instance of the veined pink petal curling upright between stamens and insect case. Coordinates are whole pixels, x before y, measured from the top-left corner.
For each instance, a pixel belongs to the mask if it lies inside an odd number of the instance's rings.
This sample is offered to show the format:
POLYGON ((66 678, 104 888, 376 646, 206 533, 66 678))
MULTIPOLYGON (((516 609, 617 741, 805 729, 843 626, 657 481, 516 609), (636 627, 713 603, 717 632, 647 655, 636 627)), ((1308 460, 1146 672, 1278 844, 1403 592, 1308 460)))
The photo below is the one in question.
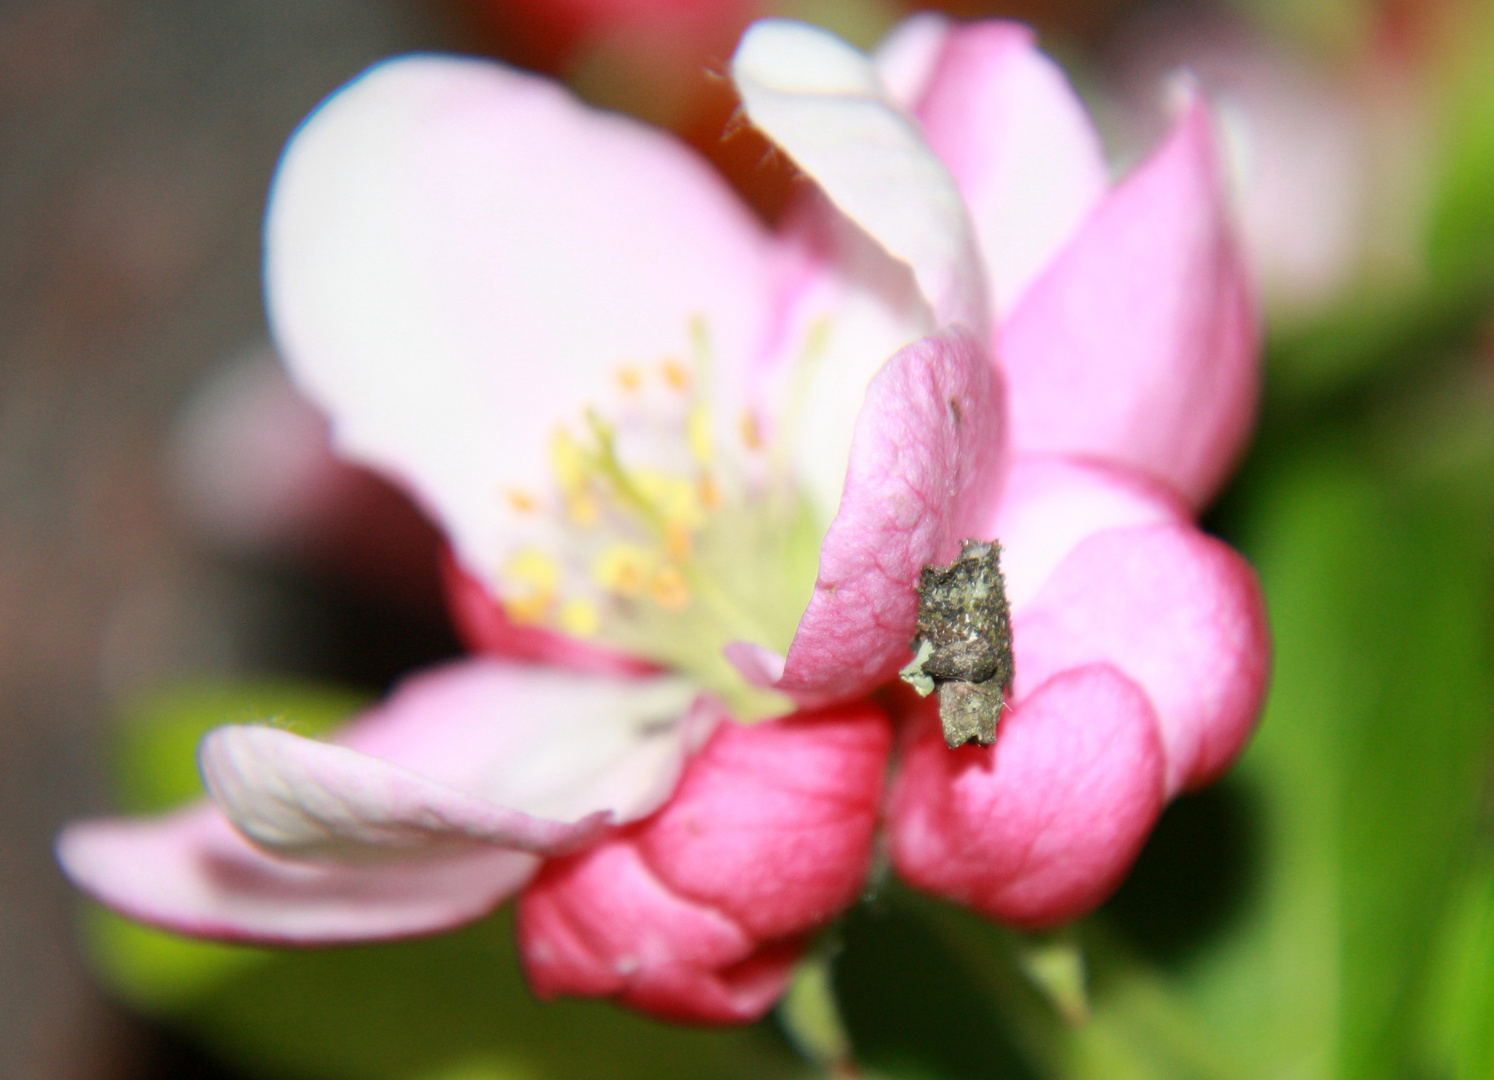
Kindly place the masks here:
MULTIPOLYGON (((814 596, 772 689, 810 705, 847 699, 907 662, 919 571, 953 559, 999 494, 1001 408, 986 353, 962 330, 908 345, 872 379, 814 596)), ((763 672, 748 663, 743 675, 763 672)))

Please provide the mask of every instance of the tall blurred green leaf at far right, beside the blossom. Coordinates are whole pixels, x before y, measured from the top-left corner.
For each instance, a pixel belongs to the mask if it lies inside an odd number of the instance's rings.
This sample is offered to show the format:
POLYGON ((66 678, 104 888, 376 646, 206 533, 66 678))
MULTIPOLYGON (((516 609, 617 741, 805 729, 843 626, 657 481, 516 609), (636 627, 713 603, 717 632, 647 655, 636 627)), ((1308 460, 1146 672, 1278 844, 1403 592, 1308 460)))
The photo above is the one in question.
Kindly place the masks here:
POLYGON ((1467 837, 1494 711, 1484 496, 1371 445, 1298 448, 1245 515, 1276 645, 1237 775, 1261 807, 1240 931, 1191 972, 1259 1076, 1403 1077, 1427 913, 1467 837))

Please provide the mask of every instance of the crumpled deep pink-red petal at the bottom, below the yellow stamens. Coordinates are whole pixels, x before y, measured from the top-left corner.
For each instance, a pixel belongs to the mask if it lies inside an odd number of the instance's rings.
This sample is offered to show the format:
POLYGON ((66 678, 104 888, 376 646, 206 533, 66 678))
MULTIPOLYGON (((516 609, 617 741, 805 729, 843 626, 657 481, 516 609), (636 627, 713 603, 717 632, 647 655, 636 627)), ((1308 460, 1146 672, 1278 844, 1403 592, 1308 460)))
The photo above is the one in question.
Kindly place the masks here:
POLYGON ((722 724, 654 817, 551 860, 518 938, 541 996, 616 996, 693 1022, 762 1016, 805 934, 871 860, 890 732, 868 704, 722 724))

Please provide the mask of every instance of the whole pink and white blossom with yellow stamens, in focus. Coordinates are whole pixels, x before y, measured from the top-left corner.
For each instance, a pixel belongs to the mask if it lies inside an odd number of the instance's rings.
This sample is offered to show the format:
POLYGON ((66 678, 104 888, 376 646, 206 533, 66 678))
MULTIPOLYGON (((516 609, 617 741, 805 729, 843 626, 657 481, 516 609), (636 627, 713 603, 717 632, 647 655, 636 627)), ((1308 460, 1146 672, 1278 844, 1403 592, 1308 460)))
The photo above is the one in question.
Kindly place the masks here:
POLYGON ((212 802, 70 828, 79 886, 296 944, 518 895, 541 995, 732 1022, 855 899, 883 813, 910 883, 1044 926, 1230 763, 1264 620, 1192 512, 1247 433, 1255 324, 1206 106, 1112 187, 1019 25, 917 18, 870 58, 760 22, 732 75, 813 181, 778 233, 490 63, 388 61, 303 125, 278 344, 444 529, 475 656, 326 742, 209 733, 212 802), (995 745, 952 751, 871 695, 965 538, 1004 547, 1016 678, 995 745))

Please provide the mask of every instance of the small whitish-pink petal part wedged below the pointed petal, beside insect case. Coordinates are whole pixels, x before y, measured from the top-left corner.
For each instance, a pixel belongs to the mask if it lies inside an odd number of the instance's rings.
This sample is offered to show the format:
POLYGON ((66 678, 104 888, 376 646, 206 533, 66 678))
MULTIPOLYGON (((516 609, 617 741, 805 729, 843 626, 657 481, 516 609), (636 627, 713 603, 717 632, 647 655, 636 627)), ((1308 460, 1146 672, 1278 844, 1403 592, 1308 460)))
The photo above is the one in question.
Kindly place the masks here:
POLYGON ((980 539, 1001 542, 1007 600, 1020 612, 1076 544, 1104 529, 1185 523, 1162 484, 1103 462, 1019 456, 980 539))

